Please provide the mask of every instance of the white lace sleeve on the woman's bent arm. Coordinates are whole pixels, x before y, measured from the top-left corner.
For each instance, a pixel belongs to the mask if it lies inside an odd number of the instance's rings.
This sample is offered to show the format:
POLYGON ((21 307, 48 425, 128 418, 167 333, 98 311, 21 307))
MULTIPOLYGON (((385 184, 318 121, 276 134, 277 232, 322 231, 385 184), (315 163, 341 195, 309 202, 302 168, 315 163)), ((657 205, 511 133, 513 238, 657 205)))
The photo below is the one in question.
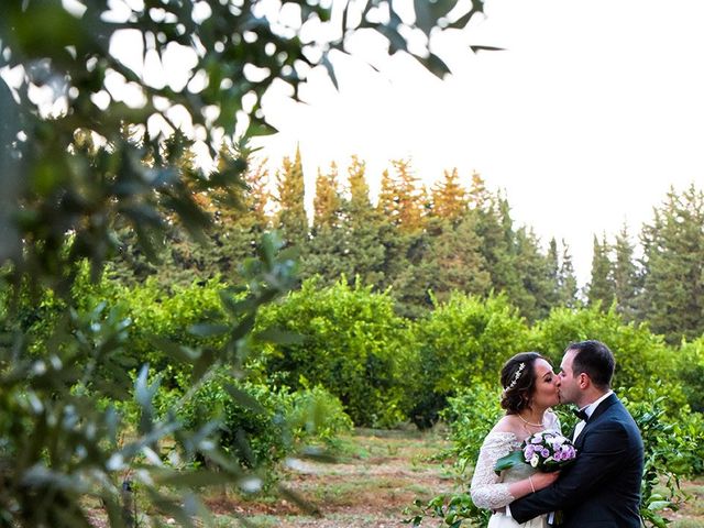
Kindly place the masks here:
POLYGON ((508 484, 494 472, 496 461, 514 448, 516 437, 512 432, 490 432, 480 449, 474 466, 470 495, 477 508, 498 509, 514 501, 508 484))

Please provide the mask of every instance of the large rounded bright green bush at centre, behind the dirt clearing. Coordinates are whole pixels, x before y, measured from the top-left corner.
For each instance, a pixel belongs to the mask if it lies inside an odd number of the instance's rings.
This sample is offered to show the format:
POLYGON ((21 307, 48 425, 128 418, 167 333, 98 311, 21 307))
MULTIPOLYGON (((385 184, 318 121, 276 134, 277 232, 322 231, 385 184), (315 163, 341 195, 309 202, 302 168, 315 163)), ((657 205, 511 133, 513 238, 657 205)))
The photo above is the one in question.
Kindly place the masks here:
POLYGON ((256 328, 300 337, 262 348, 258 361, 276 386, 321 385, 360 426, 393 426, 406 418, 408 374, 416 360, 388 295, 344 279, 319 288, 309 279, 263 309, 256 328))

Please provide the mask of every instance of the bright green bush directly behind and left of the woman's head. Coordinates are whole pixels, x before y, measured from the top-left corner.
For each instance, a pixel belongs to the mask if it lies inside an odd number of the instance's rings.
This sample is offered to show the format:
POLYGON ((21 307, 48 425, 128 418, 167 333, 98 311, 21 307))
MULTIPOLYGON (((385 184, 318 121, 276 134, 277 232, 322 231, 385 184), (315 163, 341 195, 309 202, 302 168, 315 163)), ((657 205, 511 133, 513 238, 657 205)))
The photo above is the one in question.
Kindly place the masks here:
POLYGON ((482 299, 454 293, 414 327, 420 358, 411 418, 437 421, 447 398, 476 383, 498 386, 499 371, 527 346, 528 327, 505 296, 482 299))

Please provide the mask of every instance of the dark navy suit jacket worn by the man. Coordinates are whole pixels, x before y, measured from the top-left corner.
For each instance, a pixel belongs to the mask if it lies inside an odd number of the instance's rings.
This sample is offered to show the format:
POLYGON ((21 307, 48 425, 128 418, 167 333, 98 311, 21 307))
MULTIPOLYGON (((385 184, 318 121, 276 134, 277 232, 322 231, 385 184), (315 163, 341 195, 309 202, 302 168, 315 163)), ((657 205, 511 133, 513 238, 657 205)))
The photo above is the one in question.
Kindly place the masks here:
POLYGON ((514 519, 562 510, 564 528, 638 528, 642 439, 615 394, 596 407, 574 447, 576 460, 551 486, 510 503, 514 519))

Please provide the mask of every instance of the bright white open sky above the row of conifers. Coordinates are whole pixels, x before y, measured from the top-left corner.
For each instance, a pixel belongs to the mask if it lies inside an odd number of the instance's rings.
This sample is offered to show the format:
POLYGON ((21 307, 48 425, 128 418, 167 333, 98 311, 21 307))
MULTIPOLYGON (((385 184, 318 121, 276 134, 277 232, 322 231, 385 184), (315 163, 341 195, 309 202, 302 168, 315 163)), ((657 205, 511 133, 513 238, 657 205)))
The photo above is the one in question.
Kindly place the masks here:
POLYGON ((704 183, 704 2, 487 0, 469 33, 437 42, 453 75, 407 56, 365 66, 338 56, 340 91, 314 72, 301 92, 264 100, 278 166, 300 144, 312 199, 317 168, 367 162, 373 191, 388 161, 410 156, 428 184, 477 170, 506 190, 519 224, 571 246, 588 280, 593 234, 631 234, 670 185, 704 183), (470 44, 507 51, 472 54, 470 44))

